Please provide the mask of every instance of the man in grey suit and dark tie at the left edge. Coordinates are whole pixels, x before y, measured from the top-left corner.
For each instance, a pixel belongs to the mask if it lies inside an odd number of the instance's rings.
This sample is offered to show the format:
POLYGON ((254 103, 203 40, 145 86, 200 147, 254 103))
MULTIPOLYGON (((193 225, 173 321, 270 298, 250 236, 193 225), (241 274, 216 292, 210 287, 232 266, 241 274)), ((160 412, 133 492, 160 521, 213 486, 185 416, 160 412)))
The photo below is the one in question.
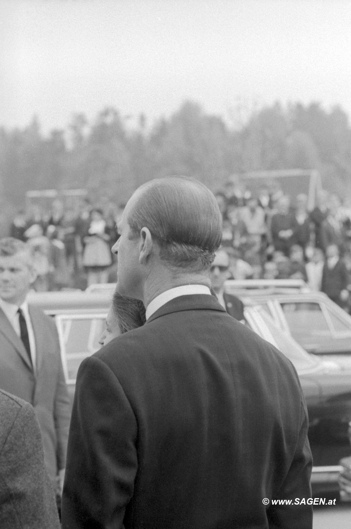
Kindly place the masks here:
POLYGON ((34 407, 53 484, 63 484, 69 397, 55 323, 26 300, 35 270, 24 242, 0 240, 0 388, 34 407))

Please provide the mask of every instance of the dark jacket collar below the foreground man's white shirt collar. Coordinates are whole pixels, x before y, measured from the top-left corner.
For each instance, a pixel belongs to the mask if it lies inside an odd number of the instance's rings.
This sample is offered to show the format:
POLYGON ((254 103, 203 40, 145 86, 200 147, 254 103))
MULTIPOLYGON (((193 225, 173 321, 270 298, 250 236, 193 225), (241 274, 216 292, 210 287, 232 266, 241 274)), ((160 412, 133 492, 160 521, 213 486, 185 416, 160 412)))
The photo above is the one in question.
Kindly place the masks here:
POLYGON ((156 320, 160 316, 171 314, 173 312, 181 311, 220 311, 226 312, 214 296, 208 294, 190 294, 186 296, 178 296, 171 299, 165 305, 161 306, 154 314, 152 314, 146 324, 156 320))

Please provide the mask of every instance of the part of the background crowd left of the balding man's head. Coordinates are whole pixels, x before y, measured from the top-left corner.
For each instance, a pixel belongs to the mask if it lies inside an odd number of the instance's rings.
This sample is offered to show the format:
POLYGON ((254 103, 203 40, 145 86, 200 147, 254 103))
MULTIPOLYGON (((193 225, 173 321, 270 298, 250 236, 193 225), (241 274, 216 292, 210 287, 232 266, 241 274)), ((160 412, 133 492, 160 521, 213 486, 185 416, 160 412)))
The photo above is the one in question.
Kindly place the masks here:
POLYGON ((34 252, 37 291, 86 288, 115 282, 111 247, 118 238, 116 222, 123 206, 96 206, 83 199, 68 208, 56 199, 50 211, 33 204, 13 219, 9 235, 27 242, 34 252))

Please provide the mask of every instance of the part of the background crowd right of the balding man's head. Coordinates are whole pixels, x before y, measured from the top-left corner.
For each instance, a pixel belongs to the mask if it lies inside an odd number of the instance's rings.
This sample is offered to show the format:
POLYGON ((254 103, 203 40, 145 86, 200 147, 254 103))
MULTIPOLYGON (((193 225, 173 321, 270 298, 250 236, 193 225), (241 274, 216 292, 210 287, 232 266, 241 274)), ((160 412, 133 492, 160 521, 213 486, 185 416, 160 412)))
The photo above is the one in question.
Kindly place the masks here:
POLYGON ((351 208, 337 195, 320 190, 312 211, 306 194, 292 200, 278 187, 215 196, 232 279, 303 279, 349 311, 351 208))

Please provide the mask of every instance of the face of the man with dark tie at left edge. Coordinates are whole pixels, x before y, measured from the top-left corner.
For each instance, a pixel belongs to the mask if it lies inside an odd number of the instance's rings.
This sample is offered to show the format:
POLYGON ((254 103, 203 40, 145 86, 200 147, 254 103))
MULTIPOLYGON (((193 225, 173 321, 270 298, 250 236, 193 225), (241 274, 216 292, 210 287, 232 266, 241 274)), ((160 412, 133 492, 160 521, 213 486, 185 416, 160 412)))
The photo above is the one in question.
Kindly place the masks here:
POLYGON ((36 274, 26 252, 0 256, 0 297, 7 303, 23 303, 36 274))

